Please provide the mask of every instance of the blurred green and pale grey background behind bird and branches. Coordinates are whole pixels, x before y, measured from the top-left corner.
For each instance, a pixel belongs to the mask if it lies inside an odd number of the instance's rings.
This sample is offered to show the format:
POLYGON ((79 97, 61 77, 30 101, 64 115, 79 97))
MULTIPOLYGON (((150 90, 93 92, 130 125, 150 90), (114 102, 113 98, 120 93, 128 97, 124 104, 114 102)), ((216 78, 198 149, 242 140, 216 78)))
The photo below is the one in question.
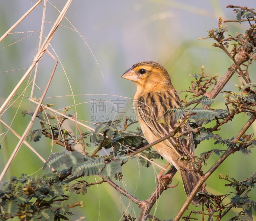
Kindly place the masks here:
MULTIPOLYGON (((36 1, 32 1, 32 5, 36 1)), ((47 2, 46 22, 44 26, 44 35, 48 34, 51 29, 51 22, 55 22, 59 12, 62 10, 66 1, 52 0, 47 2), (52 3, 52 4, 50 4, 52 3)), ((30 1, 25 0, 8 0, 1 1, 0 7, 0 35, 4 34, 28 9, 30 1)), ((51 86, 46 97, 72 95, 68 80, 75 96, 76 110, 74 107, 69 113, 77 112, 77 118, 87 121, 88 126, 93 127, 92 116, 115 116, 112 111, 113 105, 111 100, 117 99, 118 95, 133 98, 136 88, 132 82, 121 79, 121 75, 133 64, 140 61, 156 61, 162 64, 169 72, 172 84, 177 91, 186 90, 193 80, 188 76, 190 72, 200 73, 201 66, 205 65, 205 74, 222 76, 228 67, 232 64, 231 59, 219 48, 212 47, 213 41, 198 40, 200 37, 206 37, 207 31, 211 28, 218 27, 218 19, 221 16, 225 19, 235 19, 232 9, 227 9, 228 4, 247 6, 255 8, 256 3, 253 0, 236 1, 217 1, 217 0, 199 0, 199 1, 172 1, 172 0, 138 0, 138 1, 73 1, 68 8, 66 18, 76 27, 78 32, 84 37, 84 40, 76 33, 66 19, 63 19, 58 27, 52 41, 52 48, 57 53, 61 64, 54 74, 51 86), (246 3, 246 5, 244 5, 246 3), (67 28, 70 27, 70 28, 67 28), (90 47, 86 45, 86 43, 90 47), (92 55, 92 52, 95 58, 92 55), (97 65, 95 59, 98 61, 97 65), (102 73, 101 73, 102 72, 102 73), (67 75, 67 76, 66 76, 67 75), (102 76, 104 75, 104 77, 102 76), (100 94, 100 95, 85 95, 100 94), (93 113, 92 99, 106 100, 106 113, 93 113), (84 103, 86 102, 86 103, 84 103), (79 104, 83 103, 83 104, 79 104)), ((41 28, 43 3, 32 11, 12 32, 28 32, 20 34, 10 34, 0 43, 0 104, 4 102, 17 82, 26 72, 26 70, 6 72, 10 70, 27 68, 32 63, 36 53, 39 31, 41 28), (25 38, 26 36, 32 36, 25 38), (19 41, 20 39, 24 40, 19 41), (17 42, 9 47, 5 46, 17 42)), ((225 25, 225 24, 224 24, 225 25)), ((243 33, 249 25, 243 23, 229 23, 230 34, 235 32, 243 33)), ((48 49, 54 54, 49 46, 48 49)), ((42 90, 50 76, 54 61, 45 54, 38 65, 38 74, 34 96, 41 97, 42 90), (41 89, 40 89, 41 88, 41 89)), ((250 68, 250 78, 256 82, 255 64, 250 68)), ((34 73, 34 70, 33 72, 34 73)), ((26 79, 23 85, 17 91, 21 95, 30 82, 33 75, 26 79)), ((241 85, 240 78, 234 74, 232 79, 225 86, 224 90, 233 90, 238 92, 235 85, 241 85)), ((24 96, 30 96, 31 84, 25 91, 24 96)), ((182 93, 180 96, 184 96, 182 93)), ((124 107, 120 111, 125 114, 118 116, 135 116, 132 113, 132 100, 125 99, 124 107)), ((218 101, 212 105, 213 108, 224 108, 222 94, 217 97, 218 101)), ((113 102, 113 101, 112 101, 113 102)), ((11 107, 3 114, 2 119, 11 125, 18 134, 22 135, 30 117, 23 117, 21 111, 34 110, 34 104, 14 96, 11 107), (16 99, 18 100, 13 103, 16 99)), ((74 105, 72 96, 48 98, 44 103, 52 103, 55 110, 60 111, 67 106, 74 105)), ((248 120, 247 116, 240 114, 235 119, 222 126, 220 135, 223 139, 231 138, 241 129, 243 124, 248 120)), ((122 122, 122 126, 123 126, 122 122)), ((75 131, 75 125, 66 121, 64 125, 67 129, 75 131)), ((139 124, 132 125, 128 130, 134 131, 139 124)), ((36 121, 32 129, 39 129, 40 125, 36 121)), ((256 123, 247 131, 247 134, 254 133, 256 123)), ((82 128, 85 131, 85 128, 82 128)), ((11 133, 6 133, 6 128, 0 124, 0 171, 4 168, 13 149, 18 143, 18 139, 11 133)), ((51 140, 42 137, 40 142, 30 142, 30 144, 47 159, 51 152, 51 140)), ((226 147, 213 145, 214 141, 204 141, 196 149, 196 155, 210 149, 225 149, 226 147)), ((86 151, 92 153, 94 146, 87 147, 86 151)), ((81 151, 80 147, 77 147, 81 151)), ((54 145, 52 152, 61 152, 63 148, 54 145)), ((104 152, 102 152, 104 154, 104 152)), ((225 187, 227 182, 219 179, 220 173, 228 173, 230 177, 238 180, 246 179, 252 172, 255 172, 256 153, 252 150, 249 156, 241 152, 228 157, 227 160, 212 174, 207 180, 207 190, 213 194, 226 194, 233 188, 225 187)), ((211 156, 204 167, 206 171, 216 160, 217 156, 211 156)), ((140 200, 146 200, 156 187, 156 172, 159 168, 146 168, 142 166, 137 159, 130 160, 123 166, 124 179, 116 181, 118 184, 140 200)), ((165 160, 155 160, 161 166, 166 163, 165 160)), ((32 174, 42 167, 43 163, 37 156, 31 152, 25 145, 22 145, 20 151, 8 169, 4 180, 11 176, 20 176, 21 173, 32 174)), ((38 171, 44 174, 45 171, 38 171)), ((98 177, 90 177, 87 181, 100 181, 98 177)), ((180 174, 177 173, 173 178, 173 184, 179 185, 174 189, 168 189, 160 196, 156 205, 151 210, 160 219, 174 218, 180 210, 186 195, 183 190, 180 174)), ((256 191, 250 193, 252 200, 256 198, 256 191)), ((229 202, 232 195, 228 196, 224 202, 229 202)), ((107 183, 96 185, 88 188, 85 195, 72 194, 69 204, 76 201, 84 201, 85 207, 82 209, 75 208, 72 210, 75 216, 70 220, 76 220, 79 217, 85 217, 85 220, 123 220, 122 212, 132 213, 133 217, 138 217, 138 206, 127 200, 107 183)), ((190 205, 189 210, 198 210, 190 205)), ((187 211, 187 213, 188 213, 187 211)), ((237 209, 231 210, 226 219, 235 216, 237 209)), ((193 216, 201 219, 201 216, 193 216)), ((255 214, 253 217, 256 218, 255 214)), ((16 219, 13 219, 16 220, 16 219)))

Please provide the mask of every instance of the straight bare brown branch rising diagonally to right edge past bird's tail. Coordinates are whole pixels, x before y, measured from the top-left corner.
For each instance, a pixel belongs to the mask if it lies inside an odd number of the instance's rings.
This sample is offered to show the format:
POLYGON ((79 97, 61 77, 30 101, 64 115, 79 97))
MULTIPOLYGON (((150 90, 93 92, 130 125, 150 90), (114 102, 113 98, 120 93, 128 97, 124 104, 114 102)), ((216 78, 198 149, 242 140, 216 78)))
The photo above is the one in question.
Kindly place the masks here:
MULTIPOLYGON (((242 127, 242 129, 239 131, 239 133, 236 135, 232 143, 236 144, 236 142, 242 137, 242 135, 245 133, 245 131, 252 125, 254 120, 256 119, 256 115, 253 114, 252 117, 246 122, 246 124, 242 127)), ((203 177, 200 177, 198 183, 192 190, 192 192, 189 194, 188 199, 185 201, 183 206, 181 207, 180 211, 176 215, 176 217, 173 219, 173 221, 178 221, 185 210, 188 208, 188 205, 192 201, 192 199, 195 197, 196 193, 202 186, 202 184, 205 182, 206 179, 220 166, 220 164, 232 153, 234 153, 236 149, 233 147, 233 145, 230 145, 228 149, 224 152, 224 154, 212 165, 212 167, 204 174, 203 177)))

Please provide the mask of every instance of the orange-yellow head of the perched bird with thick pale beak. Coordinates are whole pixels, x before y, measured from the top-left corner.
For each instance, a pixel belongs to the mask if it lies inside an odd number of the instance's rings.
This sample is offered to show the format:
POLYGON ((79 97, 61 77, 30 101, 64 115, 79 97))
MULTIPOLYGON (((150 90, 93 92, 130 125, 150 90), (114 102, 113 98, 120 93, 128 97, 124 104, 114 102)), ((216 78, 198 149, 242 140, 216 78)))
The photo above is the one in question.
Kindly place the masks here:
POLYGON ((145 92, 155 91, 171 85, 171 79, 166 69, 152 61, 137 63, 127 70, 122 78, 132 80, 137 86, 137 90, 145 92))

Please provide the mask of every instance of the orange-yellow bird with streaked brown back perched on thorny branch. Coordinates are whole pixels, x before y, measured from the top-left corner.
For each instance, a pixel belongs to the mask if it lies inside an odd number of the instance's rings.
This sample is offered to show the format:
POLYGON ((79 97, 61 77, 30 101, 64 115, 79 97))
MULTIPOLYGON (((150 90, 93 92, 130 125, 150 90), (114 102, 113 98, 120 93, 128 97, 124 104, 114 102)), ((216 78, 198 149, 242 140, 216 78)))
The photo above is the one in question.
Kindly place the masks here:
MULTIPOLYGON (((127 70, 122 78, 132 80, 137 87, 133 107, 148 143, 171 133, 177 122, 172 119, 172 116, 164 116, 164 113, 171 108, 180 108, 182 104, 166 69, 156 62, 140 62, 127 70), (168 125, 159 123, 159 120, 168 122, 168 125)), ((189 127, 187 123, 182 131, 188 130, 189 127)), ((180 172, 187 196, 199 180, 196 166, 191 163, 188 164, 185 160, 180 160, 180 156, 188 156, 188 153, 194 154, 195 144, 192 133, 188 133, 188 136, 189 140, 181 140, 178 147, 176 145, 178 141, 175 137, 153 146, 154 150, 180 172)), ((202 187, 200 191, 202 191, 202 187)), ((192 202, 195 205, 199 204, 196 198, 192 202)))

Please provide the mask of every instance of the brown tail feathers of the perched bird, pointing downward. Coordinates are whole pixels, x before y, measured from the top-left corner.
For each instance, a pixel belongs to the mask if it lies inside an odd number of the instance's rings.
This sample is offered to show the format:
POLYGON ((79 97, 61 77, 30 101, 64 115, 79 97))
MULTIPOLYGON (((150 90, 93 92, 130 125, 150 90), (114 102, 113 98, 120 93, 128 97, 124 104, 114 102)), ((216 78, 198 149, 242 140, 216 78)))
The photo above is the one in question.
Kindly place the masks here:
MULTIPOLYGON (((189 196, 189 194, 192 192, 192 190, 194 189, 194 187, 196 186, 196 184, 199 181, 198 173, 195 171, 196 170, 195 165, 189 164, 188 168, 190 169, 189 171, 186 171, 186 170, 180 171, 180 174, 182 177, 182 182, 183 182, 183 187, 184 187, 187 197, 189 196)), ((203 187, 200 187, 198 192, 202 191, 202 190, 203 190, 203 187)), ((204 192, 206 192, 206 190, 204 190, 204 192)), ((199 205, 199 202, 196 197, 193 198, 192 203, 194 205, 199 205)))

